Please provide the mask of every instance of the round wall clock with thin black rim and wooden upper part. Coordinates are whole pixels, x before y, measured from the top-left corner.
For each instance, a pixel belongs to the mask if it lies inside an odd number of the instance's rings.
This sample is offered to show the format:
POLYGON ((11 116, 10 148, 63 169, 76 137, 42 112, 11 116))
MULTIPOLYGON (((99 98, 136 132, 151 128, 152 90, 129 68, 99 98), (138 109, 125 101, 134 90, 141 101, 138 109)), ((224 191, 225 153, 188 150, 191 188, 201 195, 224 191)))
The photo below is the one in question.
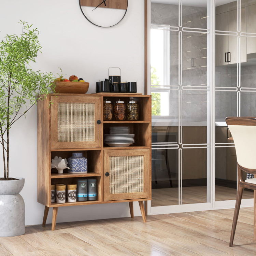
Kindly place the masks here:
POLYGON ((128 0, 79 0, 79 4, 82 13, 90 23, 109 28, 124 18, 128 0))

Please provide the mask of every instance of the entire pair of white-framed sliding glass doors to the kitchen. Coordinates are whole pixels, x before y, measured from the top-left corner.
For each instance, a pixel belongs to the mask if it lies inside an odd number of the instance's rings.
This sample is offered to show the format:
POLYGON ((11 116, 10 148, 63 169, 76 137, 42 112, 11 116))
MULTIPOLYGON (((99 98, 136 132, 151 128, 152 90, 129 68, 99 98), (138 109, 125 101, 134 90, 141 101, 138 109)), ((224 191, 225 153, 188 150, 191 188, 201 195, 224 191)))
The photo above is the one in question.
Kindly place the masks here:
POLYGON ((255 24, 256 0, 151 0, 151 213, 234 207, 225 118, 256 116, 255 24))

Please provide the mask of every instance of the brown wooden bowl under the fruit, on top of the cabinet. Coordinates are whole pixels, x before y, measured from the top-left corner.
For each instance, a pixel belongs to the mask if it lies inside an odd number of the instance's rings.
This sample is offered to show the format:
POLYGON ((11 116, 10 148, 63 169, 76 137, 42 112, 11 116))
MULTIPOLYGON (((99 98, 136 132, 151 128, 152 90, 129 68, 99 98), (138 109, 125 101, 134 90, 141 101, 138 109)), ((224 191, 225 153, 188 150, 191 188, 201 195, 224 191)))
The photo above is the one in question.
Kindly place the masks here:
POLYGON ((87 82, 55 82, 55 93, 87 93, 89 83, 87 82))

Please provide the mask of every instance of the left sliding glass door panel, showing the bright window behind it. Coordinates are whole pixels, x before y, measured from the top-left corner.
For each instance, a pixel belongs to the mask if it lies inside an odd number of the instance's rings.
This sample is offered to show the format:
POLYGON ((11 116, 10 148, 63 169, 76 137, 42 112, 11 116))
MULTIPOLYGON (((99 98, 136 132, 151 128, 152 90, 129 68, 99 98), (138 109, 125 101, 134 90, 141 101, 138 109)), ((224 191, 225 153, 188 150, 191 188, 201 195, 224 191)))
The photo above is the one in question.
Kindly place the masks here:
POLYGON ((151 207, 209 203, 208 1, 151 2, 151 207))

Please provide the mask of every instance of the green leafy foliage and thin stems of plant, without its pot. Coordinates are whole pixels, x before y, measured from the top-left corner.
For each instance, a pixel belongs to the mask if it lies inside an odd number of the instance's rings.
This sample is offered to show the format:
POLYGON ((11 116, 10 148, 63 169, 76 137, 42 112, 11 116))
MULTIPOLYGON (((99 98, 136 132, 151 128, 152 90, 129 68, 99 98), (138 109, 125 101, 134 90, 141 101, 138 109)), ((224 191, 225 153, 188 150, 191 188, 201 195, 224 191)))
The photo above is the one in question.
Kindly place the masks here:
MULTIPOLYGON (((4 179, 9 179, 9 130, 11 126, 49 93, 56 79, 53 73, 33 71, 42 46, 39 31, 20 20, 22 33, 6 35, 0 41, 0 136, 3 150, 4 179), (6 133, 6 136, 5 136, 6 133)), ((61 71, 62 72, 62 71, 61 71)))

